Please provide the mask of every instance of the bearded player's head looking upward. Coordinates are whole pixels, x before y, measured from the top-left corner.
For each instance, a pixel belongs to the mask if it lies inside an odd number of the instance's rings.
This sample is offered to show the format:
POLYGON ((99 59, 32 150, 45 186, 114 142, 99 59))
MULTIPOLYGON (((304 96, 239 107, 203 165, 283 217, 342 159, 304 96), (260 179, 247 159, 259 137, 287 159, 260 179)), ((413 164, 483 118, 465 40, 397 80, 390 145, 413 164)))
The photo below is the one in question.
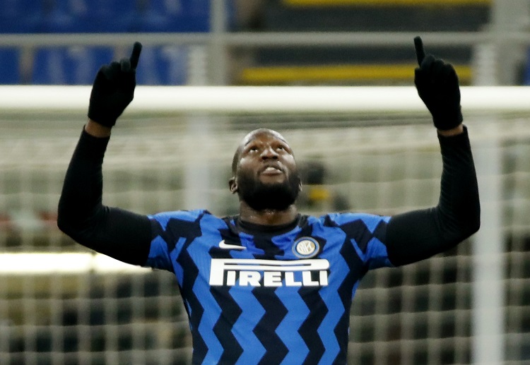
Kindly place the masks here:
POLYGON ((300 176, 293 151, 280 133, 260 129, 245 137, 232 191, 257 210, 281 210, 294 203, 300 176))

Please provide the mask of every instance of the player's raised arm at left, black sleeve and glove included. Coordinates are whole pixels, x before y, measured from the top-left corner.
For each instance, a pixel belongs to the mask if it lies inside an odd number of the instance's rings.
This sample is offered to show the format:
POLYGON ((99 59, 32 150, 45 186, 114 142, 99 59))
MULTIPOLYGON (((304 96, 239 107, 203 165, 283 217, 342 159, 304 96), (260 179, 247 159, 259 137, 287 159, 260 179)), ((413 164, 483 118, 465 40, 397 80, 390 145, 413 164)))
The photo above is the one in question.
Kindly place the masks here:
POLYGON ((129 59, 98 71, 88 122, 66 170, 57 217, 59 229, 79 244, 135 265, 146 262, 151 222, 146 215, 102 204, 102 163, 111 128, 133 100, 140 52, 136 42, 129 59))

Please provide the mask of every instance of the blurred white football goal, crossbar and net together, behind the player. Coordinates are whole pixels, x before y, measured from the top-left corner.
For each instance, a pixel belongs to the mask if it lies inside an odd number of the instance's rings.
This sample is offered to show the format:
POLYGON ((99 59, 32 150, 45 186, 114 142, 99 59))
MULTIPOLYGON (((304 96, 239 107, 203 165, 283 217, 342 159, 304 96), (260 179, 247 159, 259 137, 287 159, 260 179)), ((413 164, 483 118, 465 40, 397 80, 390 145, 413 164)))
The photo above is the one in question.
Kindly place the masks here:
MULTIPOLYGON (((59 232, 57 202, 86 121, 86 87, 0 87, 0 364, 189 364, 170 273, 95 255, 59 232)), ((530 93, 462 88, 483 206, 456 249, 367 273, 348 364, 530 360, 530 93)), ((237 213, 242 136, 292 145, 302 213, 435 205, 442 161, 414 88, 139 87, 107 149, 104 203, 137 213, 237 213)))

